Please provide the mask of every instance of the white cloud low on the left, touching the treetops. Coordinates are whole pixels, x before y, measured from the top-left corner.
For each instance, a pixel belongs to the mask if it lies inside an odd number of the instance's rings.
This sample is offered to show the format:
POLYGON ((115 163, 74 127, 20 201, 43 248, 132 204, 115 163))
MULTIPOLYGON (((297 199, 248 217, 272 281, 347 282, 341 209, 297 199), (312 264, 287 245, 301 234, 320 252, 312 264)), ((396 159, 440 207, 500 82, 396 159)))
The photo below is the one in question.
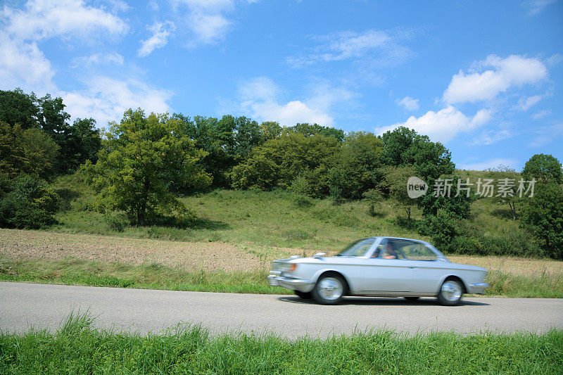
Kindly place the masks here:
POLYGON ((128 108, 143 108, 146 113, 170 110, 170 91, 155 89, 138 80, 94 77, 79 91, 60 91, 66 110, 73 117, 94 117, 99 126, 120 120, 128 108))

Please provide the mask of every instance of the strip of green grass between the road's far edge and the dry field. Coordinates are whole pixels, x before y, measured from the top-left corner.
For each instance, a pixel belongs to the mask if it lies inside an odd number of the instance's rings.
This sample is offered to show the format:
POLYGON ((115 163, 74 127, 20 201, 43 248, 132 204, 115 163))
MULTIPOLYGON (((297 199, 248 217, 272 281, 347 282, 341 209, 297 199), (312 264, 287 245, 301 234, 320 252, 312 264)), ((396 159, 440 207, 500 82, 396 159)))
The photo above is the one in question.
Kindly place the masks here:
MULTIPOLYGON (((267 269, 245 272, 184 271, 150 263, 128 265, 66 258, 64 260, 0 258, 0 280, 46 284, 116 286, 122 288, 210 291, 226 293, 289 294, 267 284, 267 269)), ((537 275, 491 271, 488 296, 563 298, 563 274, 537 275)))

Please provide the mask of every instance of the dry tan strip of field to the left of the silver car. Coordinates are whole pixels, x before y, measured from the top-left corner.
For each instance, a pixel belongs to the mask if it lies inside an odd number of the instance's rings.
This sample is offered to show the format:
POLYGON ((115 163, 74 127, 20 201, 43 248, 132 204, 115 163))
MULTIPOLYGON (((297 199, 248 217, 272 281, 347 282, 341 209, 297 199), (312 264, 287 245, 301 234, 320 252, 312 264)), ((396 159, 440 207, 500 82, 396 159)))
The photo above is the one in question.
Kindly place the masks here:
POLYGON ((0 255, 11 259, 63 260, 72 257, 129 265, 158 263, 178 269, 230 272, 262 269, 272 256, 284 253, 286 250, 281 248, 272 248, 266 253, 222 242, 160 241, 0 229, 0 255))

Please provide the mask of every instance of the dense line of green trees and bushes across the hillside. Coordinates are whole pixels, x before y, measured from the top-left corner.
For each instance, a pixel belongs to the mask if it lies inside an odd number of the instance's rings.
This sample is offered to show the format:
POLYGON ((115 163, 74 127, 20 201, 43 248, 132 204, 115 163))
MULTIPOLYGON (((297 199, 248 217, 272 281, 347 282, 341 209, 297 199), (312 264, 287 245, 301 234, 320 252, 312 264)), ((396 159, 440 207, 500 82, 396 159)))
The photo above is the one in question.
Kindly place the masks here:
MULTIPOLYGON (((187 223, 194 214, 179 194, 225 189, 289 189, 303 204, 330 197, 334 204, 363 199, 377 215, 391 198, 405 213, 422 210, 417 231, 456 251, 476 246, 467 225, 478 197, 407 196, 408 177, 430 186, 459 178, 450 151, 413 129, 398 127, 381 136, 317 124, 281 126, 248 117, 221 118, 125 111, 119 122, 97 129, 95 120, 70 123, 61 98, 37 98, 20 89, 0 91, 0 226, 53 224, 56 192, 49 182, 78 171, 97 193, 94 208, 127 212, 132 224, 171 218, 187 223)), ((514 170, 500 171, 515 176, 514 170)), ((552 155, 534 155, 522 176, 538 180, 531 199, 499 198, 518 211, 520 225, 542 248, 563 258, 563 174, 552 155)), ((481 245, 482 246, 482 245, 481 245)))

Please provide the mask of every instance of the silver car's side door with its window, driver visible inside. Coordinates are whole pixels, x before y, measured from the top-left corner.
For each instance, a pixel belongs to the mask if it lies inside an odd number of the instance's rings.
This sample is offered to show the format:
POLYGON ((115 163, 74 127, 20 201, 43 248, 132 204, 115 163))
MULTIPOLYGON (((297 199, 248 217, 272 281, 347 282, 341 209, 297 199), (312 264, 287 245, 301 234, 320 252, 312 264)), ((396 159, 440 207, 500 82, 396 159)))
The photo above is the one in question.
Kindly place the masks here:
POLYGON ((404 245, 404 240, 384 239, 378 246, 379 258, 365 259, 365 265, 362 267, 364 293, 400 294, 412 290, 412 262, 394 250, 404 245), (396 255, 391 255, 389 249, 393 249, 396 255), (395 258, 392 258, 393 256, 395 258))

